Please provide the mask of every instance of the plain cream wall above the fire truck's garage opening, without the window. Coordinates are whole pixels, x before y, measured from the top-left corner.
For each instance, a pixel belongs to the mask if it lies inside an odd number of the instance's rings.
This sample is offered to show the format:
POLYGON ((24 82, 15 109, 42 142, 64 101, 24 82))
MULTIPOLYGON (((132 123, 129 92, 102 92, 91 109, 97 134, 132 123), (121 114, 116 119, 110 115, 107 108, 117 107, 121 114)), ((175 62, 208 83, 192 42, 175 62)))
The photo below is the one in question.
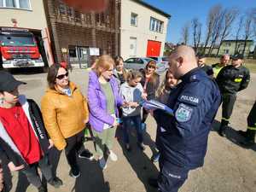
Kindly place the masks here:
POLYGON ((17 20, 18 27, 42 30, 47 27, 43 0, 30 0, 31 10, 0 8, 0 26, 14 26, 12 19, 17 20))

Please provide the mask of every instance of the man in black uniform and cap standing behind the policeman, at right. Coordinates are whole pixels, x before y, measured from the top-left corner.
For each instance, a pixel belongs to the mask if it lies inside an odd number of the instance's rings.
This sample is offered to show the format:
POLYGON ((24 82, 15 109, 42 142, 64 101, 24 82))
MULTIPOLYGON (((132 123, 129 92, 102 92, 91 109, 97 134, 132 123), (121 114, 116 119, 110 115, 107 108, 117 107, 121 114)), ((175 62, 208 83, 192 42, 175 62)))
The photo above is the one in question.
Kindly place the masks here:
POLYGON ((218 134, 225 136, 225 131, 229 125, 230 116, 236 102, 236 93, 247 88, 250 81, 250 72, 247 67, 242 65, 243 56, 240 54, 233 55, 232 64, 223 67, 217 76, 217 83, 221 92, 222 119, 218 134))

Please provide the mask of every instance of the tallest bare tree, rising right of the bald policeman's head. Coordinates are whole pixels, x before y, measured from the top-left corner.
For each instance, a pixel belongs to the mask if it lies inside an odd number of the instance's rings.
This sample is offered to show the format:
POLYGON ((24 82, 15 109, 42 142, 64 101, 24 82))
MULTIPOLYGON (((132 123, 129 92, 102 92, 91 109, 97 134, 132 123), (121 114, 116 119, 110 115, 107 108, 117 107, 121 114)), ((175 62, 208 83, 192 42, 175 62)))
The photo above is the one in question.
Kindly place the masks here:
POLYGON ((221 5, 216 5, 212 7, 207 16, 207 36, 205 41, 205 46, 203 49, 203 53, 206 52, 207 45, 212 38, 213 28, 216 26, 216 15, 218 14, 219 10, 222 9, 221 5))

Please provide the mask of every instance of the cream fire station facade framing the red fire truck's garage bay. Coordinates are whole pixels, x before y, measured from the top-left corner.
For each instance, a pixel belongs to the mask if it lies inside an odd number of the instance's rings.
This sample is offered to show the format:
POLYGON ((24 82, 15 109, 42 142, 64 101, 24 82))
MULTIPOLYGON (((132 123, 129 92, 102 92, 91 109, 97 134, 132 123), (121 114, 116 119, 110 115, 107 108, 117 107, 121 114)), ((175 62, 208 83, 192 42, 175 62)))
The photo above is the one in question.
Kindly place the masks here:
POLYGON ((45 53, 45 48, 49 48, 49 46, 47 47, 44 41, 48 42, 48 38, 42 36, 42 32, 47 31, 43 0, 0 0, 0 13, 1 29, 12 28, 32 32, 44 65, 47 66, 48 59, 50 59, 47 56, 51 55, 45 53))

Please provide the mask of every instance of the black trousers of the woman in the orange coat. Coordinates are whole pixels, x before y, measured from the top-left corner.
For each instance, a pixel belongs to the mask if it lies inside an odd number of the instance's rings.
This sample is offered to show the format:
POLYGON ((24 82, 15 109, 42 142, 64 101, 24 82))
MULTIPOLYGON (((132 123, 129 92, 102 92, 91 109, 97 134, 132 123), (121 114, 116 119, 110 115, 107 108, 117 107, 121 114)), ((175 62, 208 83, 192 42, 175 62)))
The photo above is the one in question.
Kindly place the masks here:
POLYGON ((77 155, 84 150, 84 130, 78 134, 66 138, 67 146, 65 148, 65 154, 67 157, 67 163, 71 169, 78 168, 77 155))

